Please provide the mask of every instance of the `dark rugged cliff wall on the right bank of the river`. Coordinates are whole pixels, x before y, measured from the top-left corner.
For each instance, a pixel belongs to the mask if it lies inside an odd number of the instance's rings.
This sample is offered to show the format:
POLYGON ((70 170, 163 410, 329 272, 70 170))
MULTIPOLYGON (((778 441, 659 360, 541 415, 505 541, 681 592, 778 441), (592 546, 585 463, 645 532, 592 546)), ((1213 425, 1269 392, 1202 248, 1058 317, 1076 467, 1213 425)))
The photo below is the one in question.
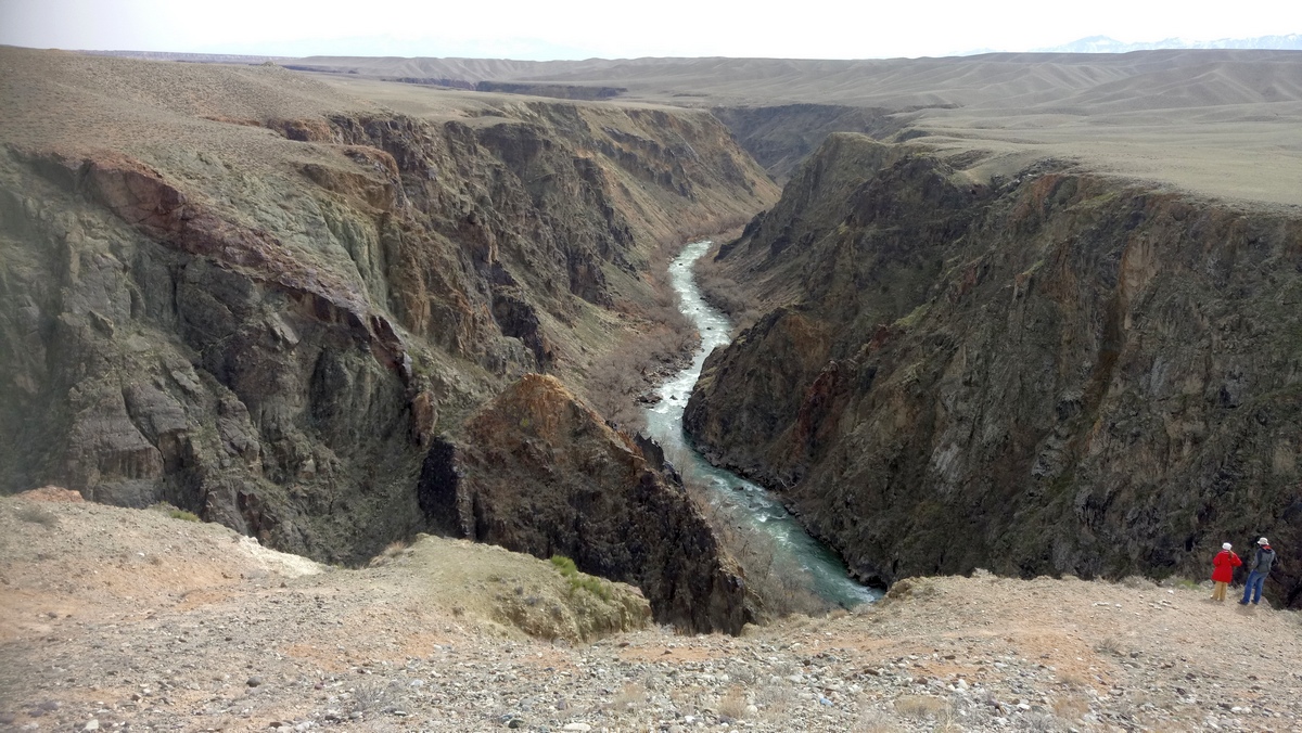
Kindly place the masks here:
POLYGON ((777 306, 687 406, 862 578, 1200 578, 1302 604, 1302 220, 835 134, 720 259, 777 306))

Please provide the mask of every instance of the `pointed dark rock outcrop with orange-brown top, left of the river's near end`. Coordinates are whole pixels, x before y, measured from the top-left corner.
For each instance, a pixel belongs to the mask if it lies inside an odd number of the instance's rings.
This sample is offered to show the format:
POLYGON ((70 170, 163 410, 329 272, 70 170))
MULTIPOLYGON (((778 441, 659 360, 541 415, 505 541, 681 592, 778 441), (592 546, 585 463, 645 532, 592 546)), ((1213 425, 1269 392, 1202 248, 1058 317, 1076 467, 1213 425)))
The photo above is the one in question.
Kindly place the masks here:
POLYGON ((686 491, 551 376, 526 375, 435 445, 421 474, 431 523, 642 588, 656 621, 740 633, 740 570, 686 491))

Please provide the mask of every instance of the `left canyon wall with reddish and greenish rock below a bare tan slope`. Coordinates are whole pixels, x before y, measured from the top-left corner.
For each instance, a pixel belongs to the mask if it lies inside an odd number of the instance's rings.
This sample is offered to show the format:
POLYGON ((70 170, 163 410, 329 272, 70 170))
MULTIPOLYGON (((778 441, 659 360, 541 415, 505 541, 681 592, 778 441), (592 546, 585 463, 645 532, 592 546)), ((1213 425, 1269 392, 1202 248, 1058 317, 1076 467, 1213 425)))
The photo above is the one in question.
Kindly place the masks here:
POLYGON ((581 380, 658 243, 773 193, 704 113, 3 53, 0 487, 319 560, 424 529, 437 435, 521 374, 581 380))

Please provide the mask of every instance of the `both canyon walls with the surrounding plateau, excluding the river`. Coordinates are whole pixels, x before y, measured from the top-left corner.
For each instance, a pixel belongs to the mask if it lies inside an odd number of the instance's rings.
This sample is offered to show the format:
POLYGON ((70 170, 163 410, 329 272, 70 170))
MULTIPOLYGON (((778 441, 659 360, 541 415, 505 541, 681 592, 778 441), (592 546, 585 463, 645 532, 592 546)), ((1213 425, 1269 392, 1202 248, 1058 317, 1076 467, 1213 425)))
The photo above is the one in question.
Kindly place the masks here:
POLYGON ((745 573, 592 405, 673 249, 749 221, 687 428, 858 578, 1266 534, 1302 604, 1299 53, 0 62, 5 492, 564 553, 737 631, 745 573))

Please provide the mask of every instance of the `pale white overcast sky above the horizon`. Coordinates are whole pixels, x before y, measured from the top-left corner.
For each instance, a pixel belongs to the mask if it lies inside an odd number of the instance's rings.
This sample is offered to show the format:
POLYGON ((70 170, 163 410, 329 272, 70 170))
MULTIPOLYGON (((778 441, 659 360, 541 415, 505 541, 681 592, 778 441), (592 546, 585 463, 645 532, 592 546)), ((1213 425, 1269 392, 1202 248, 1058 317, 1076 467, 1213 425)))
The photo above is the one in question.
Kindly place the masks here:
POLYGON ((5 44, 285 56, 874 59, 1289 33, 1302 0, 0 0, 5 44))

